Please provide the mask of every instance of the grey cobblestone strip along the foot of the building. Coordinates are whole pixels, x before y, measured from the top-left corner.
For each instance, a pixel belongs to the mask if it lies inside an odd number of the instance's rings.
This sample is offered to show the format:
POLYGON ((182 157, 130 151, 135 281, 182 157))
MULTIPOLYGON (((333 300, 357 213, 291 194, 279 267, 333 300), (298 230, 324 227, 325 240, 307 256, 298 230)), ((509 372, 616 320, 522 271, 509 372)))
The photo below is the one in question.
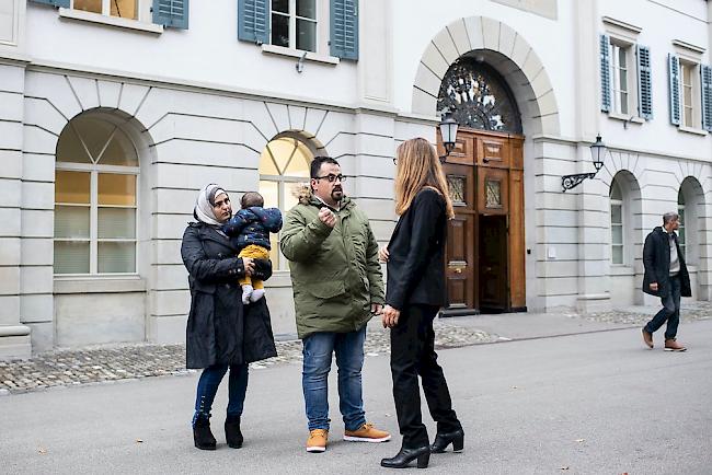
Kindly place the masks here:
MULTIPOLYGON (((682 321, 712 317, 712 303, 684 304, 682 321)), ((585 318, 604 323, 643 325, 651 314, 632 311, 600 312, 588 315, 566 314, 572 318, 585 318)), ((388 331, 376 322, 368 327, 365 351, 368 357, 390 351, 388 331)), ((473 328, 436 320, 435 346, 438 349, 501 340, 473 328)), ((300 364, 301 341, 277 341, 275 358, 251 364, 260 370, 274 364, 300 364)), ((185 369, 184 345, 133 344, 80 350, 55 350, 37 355, 25 361, 0 361, 0 395, 46 390, 57 386, 96 384, 137 380, 148 376, 188 374, 185 369)))

